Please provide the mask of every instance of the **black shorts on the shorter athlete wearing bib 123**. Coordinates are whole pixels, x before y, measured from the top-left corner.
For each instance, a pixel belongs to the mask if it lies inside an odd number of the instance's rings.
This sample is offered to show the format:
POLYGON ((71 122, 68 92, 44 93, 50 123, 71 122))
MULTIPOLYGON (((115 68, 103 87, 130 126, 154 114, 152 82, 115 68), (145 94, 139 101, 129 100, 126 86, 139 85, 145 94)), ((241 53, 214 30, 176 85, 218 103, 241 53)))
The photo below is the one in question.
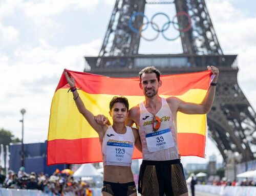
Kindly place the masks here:
POLYGON ((108 192, 114 196, 128 196, 137 192, 137 190, 135 182, 114 183, 103 181, 101 192, 108 192))

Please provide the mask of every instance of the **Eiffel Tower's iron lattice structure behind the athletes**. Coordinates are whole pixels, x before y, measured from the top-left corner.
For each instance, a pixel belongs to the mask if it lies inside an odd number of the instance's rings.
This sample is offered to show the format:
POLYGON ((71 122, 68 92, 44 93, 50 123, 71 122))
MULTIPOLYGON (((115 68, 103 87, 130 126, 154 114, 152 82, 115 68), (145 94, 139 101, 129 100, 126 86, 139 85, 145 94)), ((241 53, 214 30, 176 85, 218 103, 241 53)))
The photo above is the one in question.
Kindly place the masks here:
POLYGON ((237 55, 223 54, 204 0, 116 0, 99 55, 85 58, 84 71, 113 77, 137 77, 146 66, 155 66, 162 74, 218 67, 221 74, 214 104, 207 115, 208 134, 225 162, 225 150, 241 154, 242 162, 256 157, 256 114, 238 85, 237 55), (148 4, 174 4, 177 21, 170 21, 169 25, 178 26, 183 53, 138 54, 146 25, 140 16, 148 4))

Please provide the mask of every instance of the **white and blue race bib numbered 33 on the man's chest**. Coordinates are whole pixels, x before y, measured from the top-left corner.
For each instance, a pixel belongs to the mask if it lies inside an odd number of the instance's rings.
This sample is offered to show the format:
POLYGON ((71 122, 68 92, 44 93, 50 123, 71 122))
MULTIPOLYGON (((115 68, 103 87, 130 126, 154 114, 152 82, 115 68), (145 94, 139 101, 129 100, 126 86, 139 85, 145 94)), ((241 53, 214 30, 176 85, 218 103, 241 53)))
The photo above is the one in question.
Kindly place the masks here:
POLYGON ((174 138, 170 129, 159 130, 158 132, 146 134, 146 145, 150 152, 174 147, 174 138))

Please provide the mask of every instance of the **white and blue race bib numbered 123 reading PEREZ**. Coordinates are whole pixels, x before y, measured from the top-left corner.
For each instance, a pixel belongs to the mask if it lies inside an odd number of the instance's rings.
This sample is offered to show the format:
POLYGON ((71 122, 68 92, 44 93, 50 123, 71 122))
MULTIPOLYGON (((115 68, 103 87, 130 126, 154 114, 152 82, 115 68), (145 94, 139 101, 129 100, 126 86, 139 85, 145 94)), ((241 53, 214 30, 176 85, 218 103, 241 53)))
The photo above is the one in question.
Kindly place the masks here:
POLYGON ((132 163, 133 144, 107 142, 106 161, 132 163))

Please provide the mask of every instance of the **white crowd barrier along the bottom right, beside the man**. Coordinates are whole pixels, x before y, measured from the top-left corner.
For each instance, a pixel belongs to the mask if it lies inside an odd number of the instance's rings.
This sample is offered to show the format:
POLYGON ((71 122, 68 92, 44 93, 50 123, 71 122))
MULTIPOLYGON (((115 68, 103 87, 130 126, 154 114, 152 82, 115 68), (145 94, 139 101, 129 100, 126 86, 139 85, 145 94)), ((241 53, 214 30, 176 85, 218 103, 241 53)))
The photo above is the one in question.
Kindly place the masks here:
POLYGON ((221 196, 255 196, 255 186, 214 186, 197 184, 195 190, 221 196))

